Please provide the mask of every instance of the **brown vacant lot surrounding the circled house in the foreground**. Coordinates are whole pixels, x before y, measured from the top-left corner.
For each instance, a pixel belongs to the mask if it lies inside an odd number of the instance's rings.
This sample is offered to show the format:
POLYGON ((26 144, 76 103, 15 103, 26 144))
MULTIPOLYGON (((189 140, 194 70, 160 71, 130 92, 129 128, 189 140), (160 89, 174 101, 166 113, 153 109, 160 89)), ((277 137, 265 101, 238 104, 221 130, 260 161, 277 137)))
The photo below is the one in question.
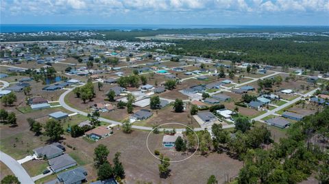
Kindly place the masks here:
MULTIPOLYGON (((160 161, 149 154, 146 148, 147 131, 133 131, 125 134, 114 129, 114 135, 93 144, 86 143, 82 137, 66 138, 66 144, 75 146, 86 158, 93 160, 93 150, 98 144, 105 144, 110 150, 108 157, 110 163, 114 154, 121 152, 121 161, 125 168, 127 183, 135 183, 137 180, 151 181, 153 183, 205 183, 211 174, 215 174, 219 183, 223 183, 223 174, 235 176, 242 167, 242 162, 230 159, 225 154, 210 153, 207 157, 194 155, 191 159, 180 163, 171 163, 171 176, 160 179, 158 164, 160 161), (83 145, 83 146, 82 146, 83 145)), ((150 146, 161 142, 162 135, 152 135, 150 146)), ((92 163, 86 164, 88 181, 95 180, 96 170, 92 163)))

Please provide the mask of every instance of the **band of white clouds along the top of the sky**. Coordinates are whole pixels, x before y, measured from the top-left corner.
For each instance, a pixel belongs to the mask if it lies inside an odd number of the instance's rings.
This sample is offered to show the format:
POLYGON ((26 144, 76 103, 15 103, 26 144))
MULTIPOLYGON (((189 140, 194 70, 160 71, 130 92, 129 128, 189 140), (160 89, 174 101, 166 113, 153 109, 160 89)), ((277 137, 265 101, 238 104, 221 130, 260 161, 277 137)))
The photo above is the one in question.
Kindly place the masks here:
POLYGON ((0 0, 1 14, 329 12, 329 0, 0 0))

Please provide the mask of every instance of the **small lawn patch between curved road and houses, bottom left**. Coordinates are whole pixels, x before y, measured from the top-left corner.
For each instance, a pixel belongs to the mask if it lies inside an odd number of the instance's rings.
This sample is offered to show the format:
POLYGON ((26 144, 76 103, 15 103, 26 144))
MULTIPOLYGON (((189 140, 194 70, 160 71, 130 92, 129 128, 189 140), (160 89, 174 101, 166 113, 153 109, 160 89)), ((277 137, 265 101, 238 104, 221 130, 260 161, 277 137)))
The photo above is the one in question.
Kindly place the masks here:
POLYGON ((43 160, 32 160, 23 163, 22 166, 27 173, 29 173, 29 176, 33 177, 42 174, 43 171, 47 170, 49 164, 47 161, 43 160))

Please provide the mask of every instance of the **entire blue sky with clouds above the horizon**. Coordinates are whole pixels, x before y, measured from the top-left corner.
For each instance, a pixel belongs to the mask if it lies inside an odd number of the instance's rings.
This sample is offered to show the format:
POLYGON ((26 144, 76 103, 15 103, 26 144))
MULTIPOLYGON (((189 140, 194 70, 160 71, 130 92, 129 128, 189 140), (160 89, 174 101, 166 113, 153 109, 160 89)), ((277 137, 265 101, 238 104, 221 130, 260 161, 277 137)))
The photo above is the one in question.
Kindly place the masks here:
POLYGON ((0 0, 1 24, 329 25, 329 0, 0 0))

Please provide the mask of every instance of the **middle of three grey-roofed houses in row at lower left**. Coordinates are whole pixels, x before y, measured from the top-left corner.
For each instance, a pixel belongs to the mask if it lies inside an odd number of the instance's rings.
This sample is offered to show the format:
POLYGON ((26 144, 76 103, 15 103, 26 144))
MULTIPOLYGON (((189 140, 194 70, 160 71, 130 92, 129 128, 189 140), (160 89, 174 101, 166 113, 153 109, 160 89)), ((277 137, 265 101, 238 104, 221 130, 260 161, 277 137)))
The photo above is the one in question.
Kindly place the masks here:
POLYGON ((75 161, 72 157, 70 157, 70 155, 67 154, 49 159, 48 163, 53 172, 60 172, 77 165, 77 161, 75 161))

